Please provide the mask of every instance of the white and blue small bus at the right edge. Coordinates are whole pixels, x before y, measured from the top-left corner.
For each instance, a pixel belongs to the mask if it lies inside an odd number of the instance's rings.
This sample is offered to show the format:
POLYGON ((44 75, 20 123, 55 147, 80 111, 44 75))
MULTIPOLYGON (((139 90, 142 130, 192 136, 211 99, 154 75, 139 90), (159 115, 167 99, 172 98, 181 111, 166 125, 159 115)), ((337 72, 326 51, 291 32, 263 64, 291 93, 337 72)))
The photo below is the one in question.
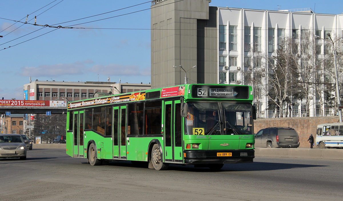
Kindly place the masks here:
POLYGON ((343 148, 343 123, 319 124, 317 126, 316 146, 343 148))

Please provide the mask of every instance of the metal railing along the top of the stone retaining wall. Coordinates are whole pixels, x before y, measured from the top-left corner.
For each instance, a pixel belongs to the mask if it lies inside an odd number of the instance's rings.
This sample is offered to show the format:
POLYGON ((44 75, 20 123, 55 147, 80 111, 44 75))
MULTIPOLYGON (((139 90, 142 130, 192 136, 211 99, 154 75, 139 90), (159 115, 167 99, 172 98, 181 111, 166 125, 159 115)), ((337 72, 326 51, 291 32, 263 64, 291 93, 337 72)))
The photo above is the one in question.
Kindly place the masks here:
POLYGON ((257 118, 338 116, 337 108, 257 111, 257 118))

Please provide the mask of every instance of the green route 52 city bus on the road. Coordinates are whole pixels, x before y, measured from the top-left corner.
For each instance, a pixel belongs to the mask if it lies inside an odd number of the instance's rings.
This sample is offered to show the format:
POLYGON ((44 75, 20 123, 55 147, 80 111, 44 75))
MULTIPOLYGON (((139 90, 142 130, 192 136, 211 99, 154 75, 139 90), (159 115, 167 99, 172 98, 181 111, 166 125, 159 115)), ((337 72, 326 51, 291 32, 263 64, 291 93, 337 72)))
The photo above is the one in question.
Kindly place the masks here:
POLYGON ((251 86, 185 84, 72 101, 67 154, 105 161, 145 161, 220 169, 255 158, 251 86))

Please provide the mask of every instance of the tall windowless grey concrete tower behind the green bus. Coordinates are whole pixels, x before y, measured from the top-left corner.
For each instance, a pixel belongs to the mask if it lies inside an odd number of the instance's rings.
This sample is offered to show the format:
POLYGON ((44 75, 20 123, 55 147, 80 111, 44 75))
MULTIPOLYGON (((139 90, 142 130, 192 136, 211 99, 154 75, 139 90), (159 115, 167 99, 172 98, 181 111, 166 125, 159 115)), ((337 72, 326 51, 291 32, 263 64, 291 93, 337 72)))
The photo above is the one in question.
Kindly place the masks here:
POLYGON ((153 0, 151 5, 151 87, 218 83, 217 7, 211 0, 153 0), (192 68, 193 66, 196 68, 192 68), (206 66, 206 67, 205 67, 206 66))

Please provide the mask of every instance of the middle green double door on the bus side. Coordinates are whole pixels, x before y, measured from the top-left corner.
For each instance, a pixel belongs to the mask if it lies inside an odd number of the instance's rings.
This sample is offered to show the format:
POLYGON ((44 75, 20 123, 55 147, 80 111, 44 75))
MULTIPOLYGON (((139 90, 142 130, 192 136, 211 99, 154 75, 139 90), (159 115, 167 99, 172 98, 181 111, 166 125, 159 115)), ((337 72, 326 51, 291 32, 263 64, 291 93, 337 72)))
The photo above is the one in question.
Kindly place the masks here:
POLYGON ((113 159, 126 160, 126 106, 113 107, 113 159))

